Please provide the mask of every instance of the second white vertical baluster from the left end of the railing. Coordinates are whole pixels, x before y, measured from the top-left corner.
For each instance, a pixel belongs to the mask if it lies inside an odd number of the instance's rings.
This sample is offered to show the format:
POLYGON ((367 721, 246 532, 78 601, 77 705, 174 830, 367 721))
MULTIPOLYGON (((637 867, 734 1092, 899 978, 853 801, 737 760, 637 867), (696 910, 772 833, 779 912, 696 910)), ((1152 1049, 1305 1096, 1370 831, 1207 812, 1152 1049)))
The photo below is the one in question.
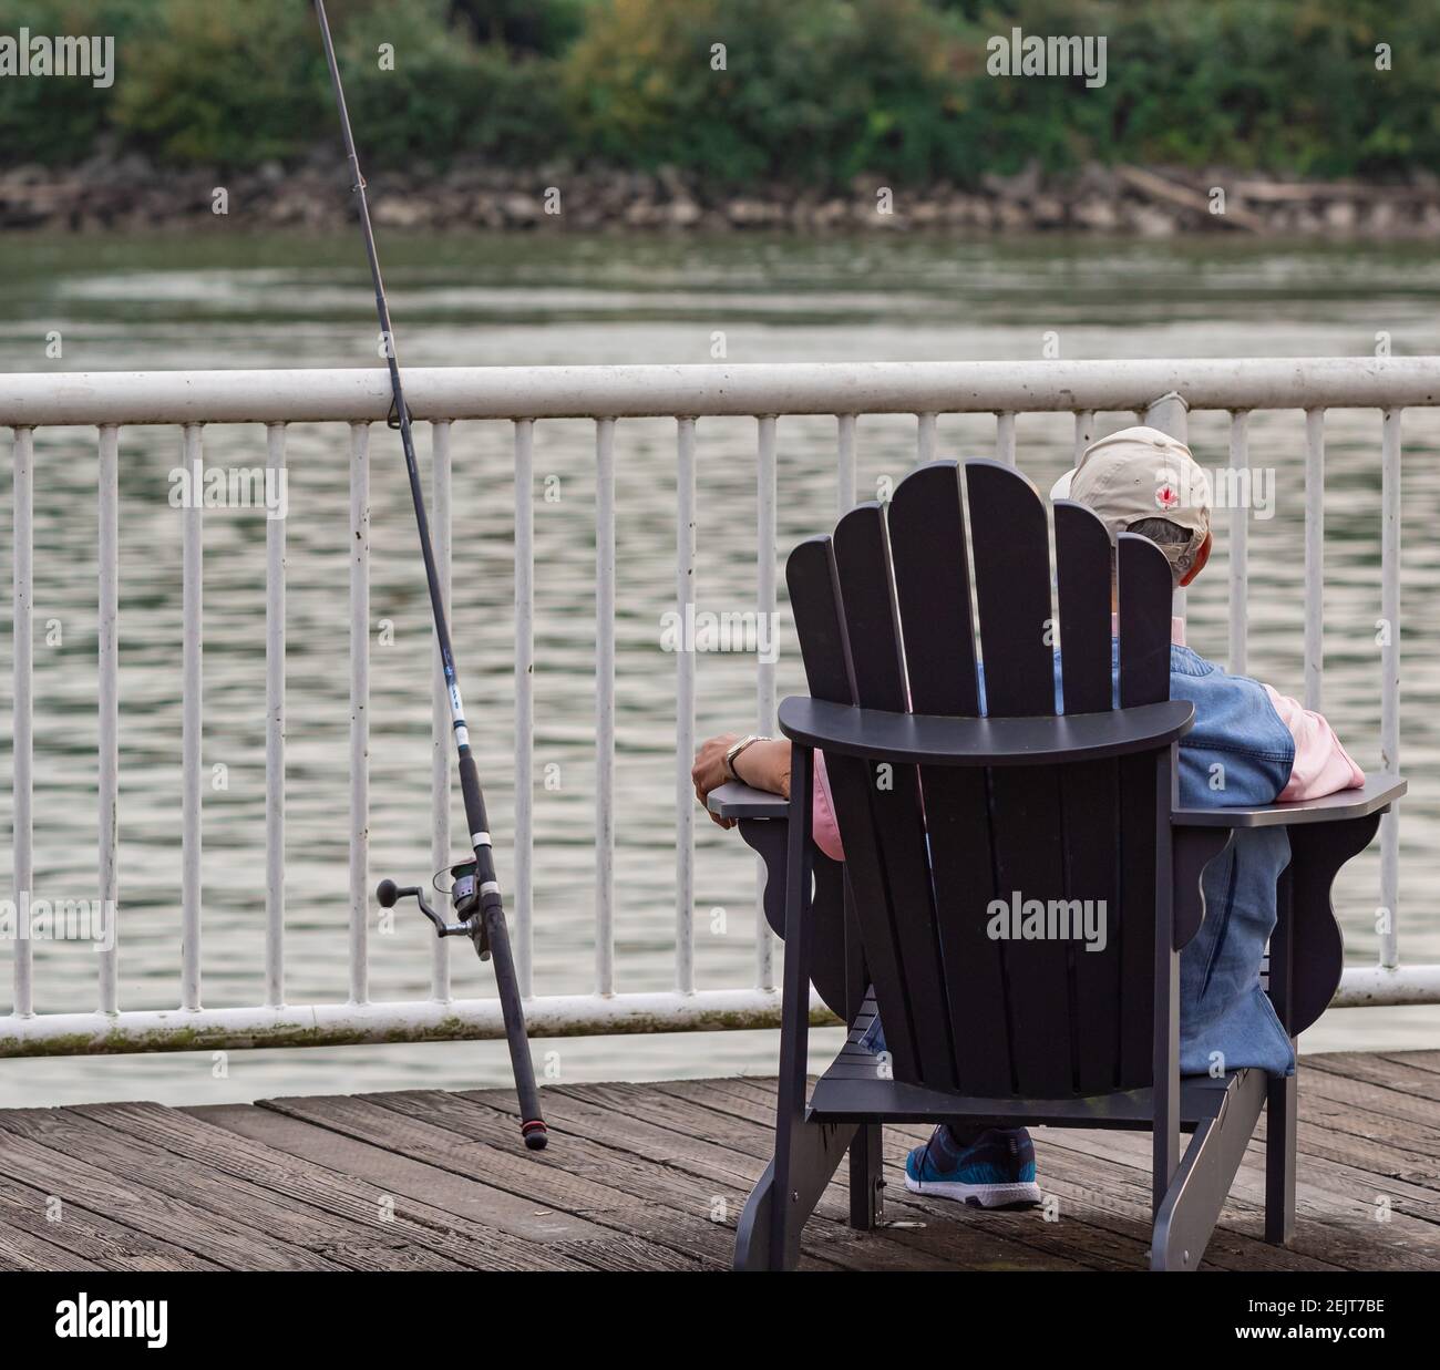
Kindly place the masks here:
POLYGON ((99 430, 99 1012, 120 1009, 120 429, 99 430))

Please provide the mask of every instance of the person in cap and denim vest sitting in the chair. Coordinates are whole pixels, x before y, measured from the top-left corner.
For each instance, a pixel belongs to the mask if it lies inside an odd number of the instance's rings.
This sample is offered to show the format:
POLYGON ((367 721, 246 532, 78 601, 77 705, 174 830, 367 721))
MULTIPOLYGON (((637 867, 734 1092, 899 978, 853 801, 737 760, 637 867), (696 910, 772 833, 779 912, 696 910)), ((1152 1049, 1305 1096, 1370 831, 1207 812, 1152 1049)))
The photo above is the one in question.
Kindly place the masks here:
MULTIPOLYGON (((1176 587, 1188 586, 1210 558, 1208 481, 1189 449, 1158 429, 1130 427, 1092 443, 1051 494, 1093 509, 1112 538, 1138 532, 1156 543, 1176 587)), ((1181 803, 1269 804, 1365 783, 1318 712, 1192 652, 1182 619, 1171 620, 1171 698, 1195 705, 1195 725, 1179 743, 1181 803)), ((726 780, 788 796, 791 744, 713 737, 696 754, 691 779, 701 804, 726 780)), ((814 823, 821 850, 842 861, 822 756, 815 766, 814 823)), ((1295 1071, 1290 1039, 1260 989, 1260 961, 1276 922, 1276 881, 1289 859, 1283 827, 1241 829, 1205 872, 1205 921, 1181 953, 1185 1075, 1241 1066, 1276 1075, 1295 1071)), ((981 1207, 1038 1203, 1030 1133, 940 1124, 910 1153, 906 1189, 981 1207)))

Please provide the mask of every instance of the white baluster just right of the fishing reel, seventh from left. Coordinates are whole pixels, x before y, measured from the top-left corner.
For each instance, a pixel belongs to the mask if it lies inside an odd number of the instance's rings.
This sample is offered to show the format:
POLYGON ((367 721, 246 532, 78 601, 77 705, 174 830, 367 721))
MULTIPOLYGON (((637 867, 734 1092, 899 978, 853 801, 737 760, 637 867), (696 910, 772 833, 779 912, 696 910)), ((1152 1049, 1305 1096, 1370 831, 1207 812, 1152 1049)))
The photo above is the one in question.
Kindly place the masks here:
POLYGON ((516 976, 524 999, 534 993, 534 432, 533 419, 516 420, 516 976))

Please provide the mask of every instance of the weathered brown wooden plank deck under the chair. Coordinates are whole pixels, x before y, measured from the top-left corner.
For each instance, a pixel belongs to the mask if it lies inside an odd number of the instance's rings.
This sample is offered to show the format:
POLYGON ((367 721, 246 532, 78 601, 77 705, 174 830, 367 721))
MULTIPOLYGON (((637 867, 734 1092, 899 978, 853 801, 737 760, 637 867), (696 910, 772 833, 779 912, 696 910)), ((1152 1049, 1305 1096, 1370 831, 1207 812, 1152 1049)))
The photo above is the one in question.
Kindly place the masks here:
MULTIPOLYGON (((729 1266, 773 1081, 557 1085, 544 1102, 540 1156, 503 1091, 0 1111, 0 1268, 729 1266)), ((899 1167, 923 1135, 886 1133, 887 1226, 851 1230, 835 1184, 805 1266, 1143 1268, 1148 1134, 1037 1131, 1057 1220, 907 1196, 899 1167)), ((1210 1268, 1440 1269, 1440 1052, 1306 1058, 1299 1148, 1293 1248, 1259 1240, 1251 1144, 1210 1268)))

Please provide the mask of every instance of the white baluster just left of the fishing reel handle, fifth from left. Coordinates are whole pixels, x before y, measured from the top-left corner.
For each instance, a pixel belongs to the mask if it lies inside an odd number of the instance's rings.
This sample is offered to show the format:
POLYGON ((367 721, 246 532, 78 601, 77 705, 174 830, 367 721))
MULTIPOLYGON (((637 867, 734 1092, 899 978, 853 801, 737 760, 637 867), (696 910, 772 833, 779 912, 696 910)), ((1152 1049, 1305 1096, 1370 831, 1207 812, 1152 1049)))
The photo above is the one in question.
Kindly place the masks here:
POLYGON ((350 1002, 370 999, 370 425, 350 425, 350 1002))

